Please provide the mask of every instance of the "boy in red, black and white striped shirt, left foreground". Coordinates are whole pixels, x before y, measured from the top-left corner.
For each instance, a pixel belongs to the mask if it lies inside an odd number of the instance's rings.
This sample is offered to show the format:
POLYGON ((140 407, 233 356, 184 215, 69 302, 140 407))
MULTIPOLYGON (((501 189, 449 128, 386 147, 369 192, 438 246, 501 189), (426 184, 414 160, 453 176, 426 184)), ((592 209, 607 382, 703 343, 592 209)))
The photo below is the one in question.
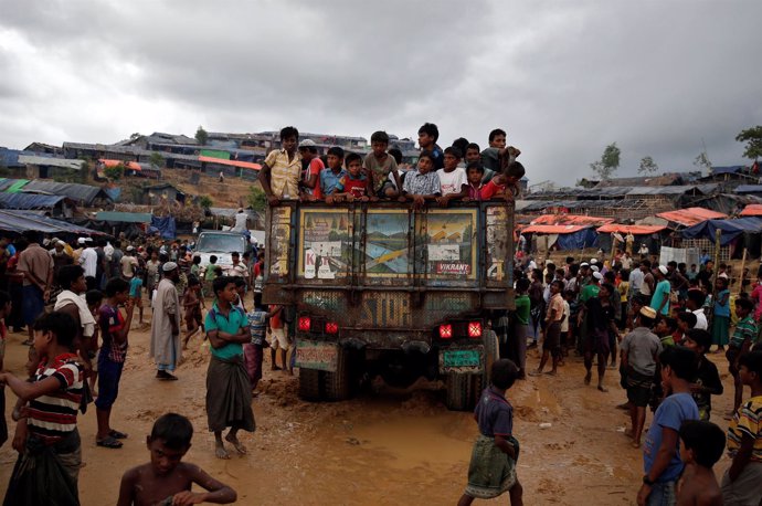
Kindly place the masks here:
POLYGON ((17 429, 19 458, 6 494, 6 504, 80 504, 77 477, 82 464, 76 415, 82 401, 84 369, 72 346, 77 328, 63 313, 40 316, 32 346, 41 358, 32 382, 0 373, 23 402, 29 402, 17 429), (43 451, 44 449, 50 451, 43 451), (46 486, 40 486, 40 484, 46 486))

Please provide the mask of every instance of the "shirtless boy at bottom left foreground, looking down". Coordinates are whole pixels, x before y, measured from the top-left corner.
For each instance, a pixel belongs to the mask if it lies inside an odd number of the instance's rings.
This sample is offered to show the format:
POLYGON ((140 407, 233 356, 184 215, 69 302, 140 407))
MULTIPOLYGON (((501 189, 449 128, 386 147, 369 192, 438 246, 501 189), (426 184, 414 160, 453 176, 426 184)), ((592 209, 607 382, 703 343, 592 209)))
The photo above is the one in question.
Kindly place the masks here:
POLYGON ((218 482, 201 467, 180 462, 191 446, 193 425, 176 413, 167 413, 154 423, 146 445, 151 462, 133 467, 121 476, 117 506, 231 504, 235 491, 218 482), (191 492, 193 484, 207 492, 191 492))

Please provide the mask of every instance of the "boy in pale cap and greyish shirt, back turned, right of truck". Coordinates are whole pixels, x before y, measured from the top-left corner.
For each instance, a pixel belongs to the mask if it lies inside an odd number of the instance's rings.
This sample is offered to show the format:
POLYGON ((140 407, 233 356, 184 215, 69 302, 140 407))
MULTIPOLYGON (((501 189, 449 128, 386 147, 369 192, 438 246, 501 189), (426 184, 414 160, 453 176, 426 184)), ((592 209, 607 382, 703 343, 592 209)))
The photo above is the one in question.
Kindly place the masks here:
POLYGON ((644 307, 636 319, 636 327, 624 336, 620 350, 622 368, 626 371, 627 400, 632 428, 627 435, 633 439, 633 447, 641 446, 641 434, 646 421, 646 407, 654 386, 656 362, 662 352, 662 341, 650 327, 656 319, 653 307, 644 307))

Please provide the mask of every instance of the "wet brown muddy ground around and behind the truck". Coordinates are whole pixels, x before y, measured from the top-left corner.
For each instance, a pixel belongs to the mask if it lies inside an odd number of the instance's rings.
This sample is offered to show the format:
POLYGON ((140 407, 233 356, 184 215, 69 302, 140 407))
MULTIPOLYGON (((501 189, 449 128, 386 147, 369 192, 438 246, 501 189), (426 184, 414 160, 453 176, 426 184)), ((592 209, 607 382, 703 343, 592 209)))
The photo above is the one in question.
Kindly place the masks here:
MULTIPOLYGON (((207 431, 208 357, 199 339, 191 341, 178 371, 180 381, 158 382, 147 356, 149 330, 137 327, 113 412, 112 425, 129 434, 125 446, 97 447, 94 409, 80 418, 83 505, 116 502, 121 474, 147 462, 145 436, 154 420, 168 411, 186 414, 195 428, 186 458, 233 486, 237 504, 444 505, 459 497, 477 428, 470 413, 444 408, 441 384, 420 382, 409 391, 377 384, 348 402, 311 404, 297 398, 296 378, 266 370, 253 404, 257 431, 241 438, 248 455, 219 461, 207 431)), ((25 361, 23 337, 10 335, 7 346, 7 367, 18 375, 25 361)), ((529 365, 537 361, 530 354, 529 365)), ((642 456, 620 432, 627 419, 614 405, 624 393, 615 371, 608 375, 608 393, 585 387, 582 365, 572 358, 560 377, 530 378, 509 391, 527 505, 634 504, 642 456)), ((727 379, 726 387, 732 388, 727 379)), ((10 413, 13 394, 8 398, 10 413)), ((716 412, 722 413, 729 399, 716 404, 716 412)), ((650 414, 646 425, 649 422, 650 414)), ((9 442, 0 450, 3 494, 14 460, 9 442)), ((723 458, 718 473, 727 465, 723 458)), ((507 502, 505 497, 496 504, 507 502)))

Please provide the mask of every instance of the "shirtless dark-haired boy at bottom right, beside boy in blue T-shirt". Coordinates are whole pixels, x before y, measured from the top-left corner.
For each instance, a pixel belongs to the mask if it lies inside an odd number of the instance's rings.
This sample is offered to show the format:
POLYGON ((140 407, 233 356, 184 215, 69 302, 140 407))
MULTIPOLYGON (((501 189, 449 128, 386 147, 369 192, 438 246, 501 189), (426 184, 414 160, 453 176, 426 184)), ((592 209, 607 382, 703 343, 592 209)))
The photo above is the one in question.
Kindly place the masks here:
POLYGON ((680 458, 686 465, 677 484, 677 506, 722 506, 712 466, 724 451, 722 429, 689 420, 680 425, 680 458))

